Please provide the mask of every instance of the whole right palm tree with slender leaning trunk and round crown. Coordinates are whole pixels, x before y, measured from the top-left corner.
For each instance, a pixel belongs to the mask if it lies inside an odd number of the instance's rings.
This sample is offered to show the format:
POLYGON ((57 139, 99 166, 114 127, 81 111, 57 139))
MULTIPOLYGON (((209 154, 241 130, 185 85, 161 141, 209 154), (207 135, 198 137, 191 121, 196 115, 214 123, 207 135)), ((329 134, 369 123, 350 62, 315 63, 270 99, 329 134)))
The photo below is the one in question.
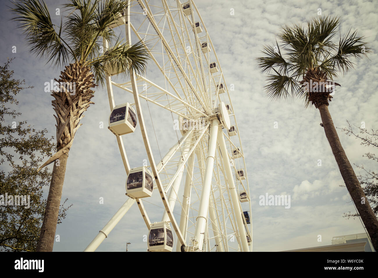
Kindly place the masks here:
POLYGON ((273 100, 299 97, 305 106, 319 109, 325 135, 331 145, 342 178, 352 200, 378 250, 378 221, 358 182, 352 165, 341 146, 328 111, 329 102, 340 74, 353 68, 350 58, 362 58, 371 52, 365 38, 351 29, 333 40, 340 24, 339 17, 317 17, 307 25, 283 26, 276 46, 264 46, 264 57, 258 57, 260 70, 266 73, 265 92, 273 100))

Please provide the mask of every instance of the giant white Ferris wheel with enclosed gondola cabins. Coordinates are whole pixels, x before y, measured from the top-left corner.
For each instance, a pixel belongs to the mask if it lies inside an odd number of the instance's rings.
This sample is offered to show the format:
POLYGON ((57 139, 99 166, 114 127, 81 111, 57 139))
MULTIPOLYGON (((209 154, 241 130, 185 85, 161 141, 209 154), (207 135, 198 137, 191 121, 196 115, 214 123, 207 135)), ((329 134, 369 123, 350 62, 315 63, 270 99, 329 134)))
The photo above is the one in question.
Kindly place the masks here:
POLYGON ((192 0, 128 2, 112 27, 125 28, 127 42, 143 42, 151 57, 146 76, 132 72, 130 80, 108 66, 108 128, 116 136, 129 198, 85 251, 94 251, 134 203, 146 224, 148 251, 252 251, 251 199, 235 109, 198 9, 192 0), (123 91, 127 101, 115 99, 113 90, 123 91), (146 124, 150 111, 142 103, 171 115, 161 122, 174 135, 160 142, 170 148, 158 159, 155 125, 152 117, 146 124), (130 167, 123 140, 138 128, 143 140, 136 141, 149 165, 130 167), (160 218, 149 210, 152 205, 162 208, 160 218))

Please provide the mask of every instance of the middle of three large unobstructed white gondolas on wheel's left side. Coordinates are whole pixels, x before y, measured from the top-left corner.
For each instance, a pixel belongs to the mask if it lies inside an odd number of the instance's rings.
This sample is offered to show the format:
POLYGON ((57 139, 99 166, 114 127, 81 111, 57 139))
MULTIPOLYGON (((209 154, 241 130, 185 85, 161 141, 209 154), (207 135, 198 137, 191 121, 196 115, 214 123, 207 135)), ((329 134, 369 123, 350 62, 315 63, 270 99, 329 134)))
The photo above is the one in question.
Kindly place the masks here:
POLYGON ((146 166, 130 170, 126 181, 126 195, 133 199, 150 197, 153 190, 153 180, 146 166))

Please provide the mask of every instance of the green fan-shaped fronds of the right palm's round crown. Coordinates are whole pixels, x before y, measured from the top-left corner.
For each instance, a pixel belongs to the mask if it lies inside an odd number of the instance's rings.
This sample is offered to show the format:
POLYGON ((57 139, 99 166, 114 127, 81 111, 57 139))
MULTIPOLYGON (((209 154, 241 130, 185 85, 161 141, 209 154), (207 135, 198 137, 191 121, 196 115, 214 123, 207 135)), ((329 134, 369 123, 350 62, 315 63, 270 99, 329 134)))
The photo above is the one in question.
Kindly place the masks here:
POLYGON ((339 25, 339 17, 327 16, 310 20, 306 27, 283 26, 277 35, 281 44, 276 40, 274 47, 265 45, 262 51, 265 57, 257 58, 259 68, 267 74, 265 92, 268 97, 273 100, 299 97, 308 106, 313 101, 311 94, 302 88, 303 82, 335 80, 340 73, 353 68, 351 57, 361 58, 371 52, 364 38, 351 29, 335 42, 339 25))

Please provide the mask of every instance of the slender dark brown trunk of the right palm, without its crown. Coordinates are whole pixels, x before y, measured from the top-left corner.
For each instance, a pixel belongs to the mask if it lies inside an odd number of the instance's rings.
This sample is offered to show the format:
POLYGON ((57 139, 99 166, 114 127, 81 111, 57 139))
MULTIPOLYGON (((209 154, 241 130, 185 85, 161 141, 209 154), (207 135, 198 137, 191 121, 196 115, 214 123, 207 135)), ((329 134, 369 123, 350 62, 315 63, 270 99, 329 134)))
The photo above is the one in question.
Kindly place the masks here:
POLYGON ((373 247, 376 251, 378 251, 378 219, 373 213, 373 210, 367 201, 361 185, 359 184, 352 165, 350 165, 345 151, 341 146, 339 136, 337 135, 335 126, 333 125, 331 114, 328 111, 328 105, 320 105, 319 112, 322 118, 325 136, 327 136, 328 142, 331 145, 332 153, 335 156, 337 165, 339 166, 341 176, 344 179, 347 190, 349 191, 349 194, 356 205, 357 211, 364 222, 366 230, 369 233, 373 247))

